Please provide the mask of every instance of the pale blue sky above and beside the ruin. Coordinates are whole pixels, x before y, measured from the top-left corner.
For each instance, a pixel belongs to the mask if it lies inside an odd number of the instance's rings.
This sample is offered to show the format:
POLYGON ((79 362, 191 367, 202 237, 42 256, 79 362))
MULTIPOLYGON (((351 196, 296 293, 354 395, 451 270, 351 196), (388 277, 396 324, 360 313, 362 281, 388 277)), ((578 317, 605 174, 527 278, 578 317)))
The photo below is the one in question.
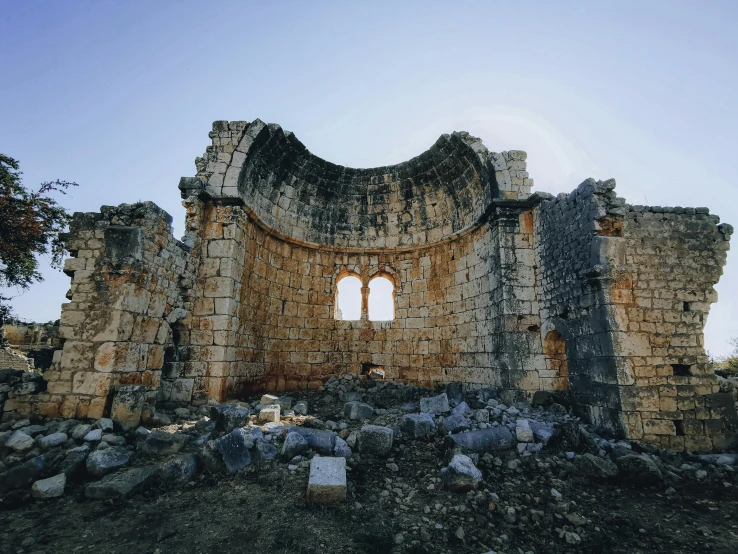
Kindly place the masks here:
MULTIPOLYGON (((466 130, 528 152, 534 190, 617 180, 632 204, 738 223, 738 3, 0 0, 0 151, 76 211, 153 200, 213 120, 279 123, 315 154, 386 165, 466 130)), ((735 250, 735 248, 734 248, 735 250)), ((56 319, 68 279, 13 300, 56 319)), ((738 252, 707 348, 738 336, 738 252)))

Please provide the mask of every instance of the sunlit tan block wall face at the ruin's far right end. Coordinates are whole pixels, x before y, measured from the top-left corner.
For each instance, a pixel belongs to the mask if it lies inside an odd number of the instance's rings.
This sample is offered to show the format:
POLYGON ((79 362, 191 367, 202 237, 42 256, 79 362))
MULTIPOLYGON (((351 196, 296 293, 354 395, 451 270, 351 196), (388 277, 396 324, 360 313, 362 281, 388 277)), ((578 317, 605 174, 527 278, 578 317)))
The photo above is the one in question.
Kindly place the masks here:
MULTIPOLYGON (((621 388, 628 434, 675 450, 725 447, 738 421, 704 349, 729 225, 707 208, 633 206, 623 221, 626 259, 614 335, 632 379, 621 388)), ((625 383, 624 383, 625 384, 625 383)))

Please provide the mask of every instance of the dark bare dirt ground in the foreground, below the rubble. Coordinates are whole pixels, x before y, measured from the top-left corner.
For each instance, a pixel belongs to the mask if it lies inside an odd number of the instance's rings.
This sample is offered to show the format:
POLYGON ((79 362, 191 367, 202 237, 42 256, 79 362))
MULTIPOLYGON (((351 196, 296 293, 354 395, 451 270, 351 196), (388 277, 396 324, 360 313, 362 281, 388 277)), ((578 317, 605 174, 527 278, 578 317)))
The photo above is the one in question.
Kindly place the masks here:
POLYGON ((454 494, 436 481, 444 454, 434 437, 397 440, 390 458, 362 456, 349 465, 347 501, 335 507, 308 504, 307 471, 283 462, 201 473, 184 488, 156 485, 117 502, 86 500, 80 485, 0 511, 0 552, 738 552, 734 474, 658 488, 583 482, 565 455, 544 450, 510 454, 513 469, 505 458, 480 461, 480 489, 454 494))

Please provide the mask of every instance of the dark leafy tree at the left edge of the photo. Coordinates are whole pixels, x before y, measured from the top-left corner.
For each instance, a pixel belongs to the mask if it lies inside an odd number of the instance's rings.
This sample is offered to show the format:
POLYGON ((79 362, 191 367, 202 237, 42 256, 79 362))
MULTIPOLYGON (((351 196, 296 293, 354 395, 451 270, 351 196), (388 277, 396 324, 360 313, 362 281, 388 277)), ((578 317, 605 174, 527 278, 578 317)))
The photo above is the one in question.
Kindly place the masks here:
MULTIPOLYGON (((59 268, 64 257, 64 231, 70 214, 49 196, 66 194, 77 183, 48 181, 36 191, 25 188, 18 162, 0 154, 0 289, 27 289, 42 281, 38 255, 48 254, 51 266, 59 268)), ((0 294, 0 326, 10 314, 8 297, 0 294)))

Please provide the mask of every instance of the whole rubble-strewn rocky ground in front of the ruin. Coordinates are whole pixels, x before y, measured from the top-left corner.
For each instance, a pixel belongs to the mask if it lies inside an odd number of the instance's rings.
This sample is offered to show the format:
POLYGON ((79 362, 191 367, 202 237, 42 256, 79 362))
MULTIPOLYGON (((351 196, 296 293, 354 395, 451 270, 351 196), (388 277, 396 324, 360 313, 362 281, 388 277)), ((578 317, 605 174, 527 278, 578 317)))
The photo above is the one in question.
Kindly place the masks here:
POLYGON ((738 551, 735 453, 610 440, 493 390, 347 377, 129 431, 8 421, 0 445, 1 552, 738 551), (347 458, 344 502, 307 501, 314 456, 347 458))

